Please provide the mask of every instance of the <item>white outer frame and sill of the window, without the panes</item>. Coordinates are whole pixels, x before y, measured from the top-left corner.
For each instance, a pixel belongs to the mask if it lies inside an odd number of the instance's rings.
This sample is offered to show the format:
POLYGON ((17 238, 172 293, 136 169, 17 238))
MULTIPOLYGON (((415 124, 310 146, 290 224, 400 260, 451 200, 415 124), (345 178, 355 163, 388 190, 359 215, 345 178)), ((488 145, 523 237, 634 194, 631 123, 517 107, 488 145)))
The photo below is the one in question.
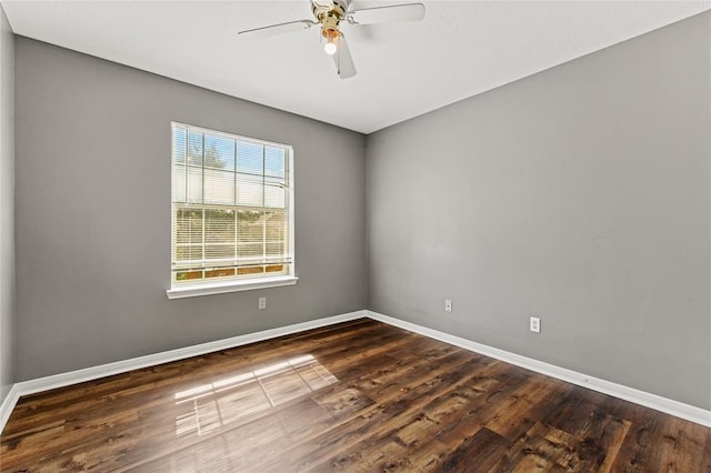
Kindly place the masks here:
MULTIPOLYGON (((296 275, 296 246, 294 246, 294 169, 293 169, 293 147, 290 144, 277 143, 273 141, 267 141, 258 138, 244 137, 237 133, 230 133, 221 130, 209 129, 200 125, 187 124, 178 121, 170 122, 170 289, 166 290, 166 295, 168 299, 181 299, 181 298, 192 298, 199 295, 209 295, 209 294, 222 294, 228 292, 238 292, 238 291, 250 291, 250 290, 259 290, 267 288, 277 288, 283 285, 293 285, 297 283, 299 278, 296 275), (173 256, 176 254, 176 209, 179 202, 176 202, 173 199, 174 189, 173 189, 173 173, 174 171, 174 153, 173 153, 173 133, 174 128, 186 127, 189 130, 197 130, 201 133, 210 133, 217 135, 224 135, 234 140, 244 140, 252 143, 258 143, 264 147, 277 147, 286 150, 286 163, 284 165, 288 168, 288 172, 286 175, 287 190, 286 190, 286 199, 287 199, 287 214, 288 214, 288 238, 287 244, 289 248, 289 256, 291 262, 287 264, 288 271, 286 274, 279 275, 256 275, 256 276, 242 276, 234 279, 216 279, 212 281, 206 281, 204 279, 196 280, 196 281, 186 281, 186 282, 177 282, 173 275, 173 256)), ((237 155, 234 157, 237 160, 237 155)), ((202 164, 204 169, 204 163, 202 164)), ((236 171, 237 172, 237 171, 236 171)), ((263 174, 262 174, 263 175, 263 174)), ((204 184, 203 184, 204 185, 204 184)), ((196 208, 200 209, 209 209, 212 204, 209 203, 200 203, 192 204, 196 208)), ((233 208, 238 208, 239 205, 232 205, 233 208)), ((262 209, 267 209, 262 207, 262 209)), ((204 244, 204 242, 203 242, 204 244)))

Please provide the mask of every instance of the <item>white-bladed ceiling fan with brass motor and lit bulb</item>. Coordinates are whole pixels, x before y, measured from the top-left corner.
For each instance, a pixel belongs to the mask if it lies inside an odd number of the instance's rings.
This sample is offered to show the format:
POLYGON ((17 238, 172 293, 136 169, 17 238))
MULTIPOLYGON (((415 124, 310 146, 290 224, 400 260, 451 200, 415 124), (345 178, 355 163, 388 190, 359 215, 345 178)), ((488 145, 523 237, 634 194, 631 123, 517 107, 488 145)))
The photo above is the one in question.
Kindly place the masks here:
POLYGON ((356 76, 356 64, 351 57, 346 37, 339 29, 341 21, 349 24, 374 24, 394 21, 421 21, 424 18, 423 3, 391 4, 360 10, 350 9, 351 0, 311 0, 311 11, 314 20, 297 20, 269 27, 240 31, 241 37, 261 38, 286 33, 294 30, 306 30, 313 26, 321 26, 321 41, 327 54, 333 57, 336 70, 341 79, 356 76))

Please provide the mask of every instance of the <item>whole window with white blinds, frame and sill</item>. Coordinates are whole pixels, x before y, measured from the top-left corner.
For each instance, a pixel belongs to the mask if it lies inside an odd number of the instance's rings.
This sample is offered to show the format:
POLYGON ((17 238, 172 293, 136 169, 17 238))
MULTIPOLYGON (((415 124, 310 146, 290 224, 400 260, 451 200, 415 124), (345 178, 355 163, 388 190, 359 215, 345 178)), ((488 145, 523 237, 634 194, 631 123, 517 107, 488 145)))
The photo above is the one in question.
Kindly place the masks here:
POLYGON ((172 123, 170 298, 293 284, 292 150, 172 123))

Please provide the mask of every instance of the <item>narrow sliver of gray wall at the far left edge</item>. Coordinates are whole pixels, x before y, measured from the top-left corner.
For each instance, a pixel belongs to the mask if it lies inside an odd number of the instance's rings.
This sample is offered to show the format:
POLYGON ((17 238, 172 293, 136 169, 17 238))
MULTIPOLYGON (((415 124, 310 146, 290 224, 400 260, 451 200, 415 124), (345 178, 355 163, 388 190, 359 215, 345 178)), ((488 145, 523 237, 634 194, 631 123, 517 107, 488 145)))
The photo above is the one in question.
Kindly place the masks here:
POLYGON ((0 6, 0 403, 14 382, 14 37, 0 6))

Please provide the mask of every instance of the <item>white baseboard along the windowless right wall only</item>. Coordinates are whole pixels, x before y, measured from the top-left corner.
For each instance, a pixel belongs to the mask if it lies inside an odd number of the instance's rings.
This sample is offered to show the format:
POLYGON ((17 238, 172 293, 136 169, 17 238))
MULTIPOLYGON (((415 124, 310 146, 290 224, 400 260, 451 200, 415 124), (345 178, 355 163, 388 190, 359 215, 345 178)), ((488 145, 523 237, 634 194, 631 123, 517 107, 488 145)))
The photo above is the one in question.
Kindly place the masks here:
POLYGON ((589 376, 587 374, 578 373, 575 371, 567 370, 564 368, 555 366, 542 361, 507 352, 504 350, 494 349, 493 346, 483 345, 481 343, 472 342, 471 340, 450 335, 449 333, 428 329, 425 326, 383 315, 378 312, 367 312, 370 319, 387 323, 389 325, 409 330, 410 332, 419 333, 420 335, 429 336, 430 339, 435 339, 452 345, 460 346, 464 350, 491 356, 497 360, 524 368, 527 370, 535 371, 537 373, 545 374, 547 376, 555 378, 558 380, 562 380, 572 384, 578 384, 579 386, 588 388, 593 391, 609 394, 624 401, 630 401, 635 404, 653 409, 655 411, 664 412, 667 414, 675 415, 677 417, 685 419, 687 421, 711 427, 711 411, 684 404, 683 402, 662 397, 657 394, 639 391, 633 388, 624 386, 622 384, 612 383, 599 378, 589 376))

